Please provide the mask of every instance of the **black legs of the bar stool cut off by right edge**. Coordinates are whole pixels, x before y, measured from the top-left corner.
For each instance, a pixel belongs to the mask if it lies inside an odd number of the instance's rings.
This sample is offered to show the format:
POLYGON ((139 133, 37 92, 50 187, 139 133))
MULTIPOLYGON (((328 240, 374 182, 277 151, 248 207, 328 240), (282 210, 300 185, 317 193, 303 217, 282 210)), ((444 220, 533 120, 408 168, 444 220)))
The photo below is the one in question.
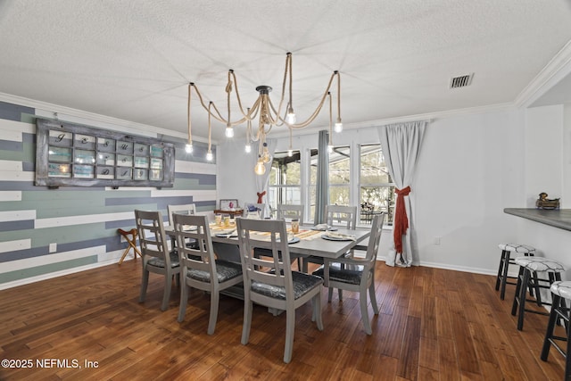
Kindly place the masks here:
POLYGON ((571 379, 571 329, 569 327, 569 310, 565 306, 563 299, 556 294, 552 294, 553 302, 551 304, 550 319, 547 324, 547 331, 545 332, 545 340, 543 340, 541 359, 547 361, 550 354, 550 347, 553 345, 565 357, 565 378, 571 379), (555 325, 558 319, 565 321, 567 337, 555 335, 555 325), (567 342, 567 348, 564 352, 561 346, 556 342, 567 342), (569 355, 567 355, 569 353, 569 355))

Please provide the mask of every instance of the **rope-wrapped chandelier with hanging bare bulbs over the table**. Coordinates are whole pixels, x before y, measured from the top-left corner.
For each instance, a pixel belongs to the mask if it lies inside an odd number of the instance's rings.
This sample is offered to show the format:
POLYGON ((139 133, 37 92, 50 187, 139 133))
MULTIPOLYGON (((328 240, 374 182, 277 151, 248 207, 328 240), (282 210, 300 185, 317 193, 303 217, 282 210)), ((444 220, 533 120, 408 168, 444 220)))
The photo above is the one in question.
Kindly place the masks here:
POLYGON ((256 91, 259 93, 258 98, 256 101, 250 106, 247 107, 244 111, 244 106, 242 104, 242 100, 240 98, 240 94, 238 92, 238 85, 236 81, 236 74, 234 70, 228 70, 228 83, 226 85, 226 93, 227 93, 227 115, 226 117, 219 112, 219 109, 213 102, 209 102, 208 104, 204 103, 203 95, 201 95, 198 87, 191 82, 188 84, 188 104, 187 104, 187 120, 188 120, 188 142, 186 144, 186 152, 192 153, 193 151, 193 137, 192 137, 192 128, 191 128, 191 100, 192 100, 192 90, 198 96, 198 100, 200 104, 203 106, 203 109, 208 112, 208 151, 206 153, 206 160, 212 160, 212 151, 211 151, 211 120, 212 118, 215 120, 219 120, 226 126, 226 137, 234 137, 234 127, 241 124, 246 124, 246 145, 245 145, 245 152, 250 153, 252 151, 252 143, 259 142, 258 144, 258 161, 254 167, 254 172, 258 175, 263 175, 266 171, 265 165, 266 163, 271 161, 271 157, 269 155, 268 144, 266 143, 266 137, 271 131, 272 128, 277 127, 284 127, 289 129, 289 150, 288 154, 291 156, 293 153, 292 150, 292 131, 294 129, 299 128, 306 128, 310 125, 310 123, 315 120, 323 105, 325 104, 326 100, 328 99, 329 102, 329 146, 332 146, 332 137, 331 132, 333 128, 333 102, 331 98, 331 85, 333 84, 334 79, 337 79, 337 119, 335 121, 335 132, 341 132, 343 130, 343 123, 341 121, 341 77, 338 70, 335 70, 327 83, 327 87, 323 96, 319 101, 318 106, 316 107, 315 111, 310 114, 310 117, 307 120, 304 120, 300 123, 297 122, 297 117, 294 112, 294 102, 292 96, 292 54, 287 53, 285 56, 285 71, 284 71, 284 81, 282 85, 281 96, 279 99, 279 103, 277 107, 275 104, 271 102, 269 97, 269 93, 271 92, 272 88, 269 86, 259 86, 256 87, 256 91), (287 102, 285 103, 285 96, 287 89, 287 102), (232 120, 231 112, 230 112, 230 100, 232 97, 232 93, 236 95, 236 104, 237 109, 239 110, 239 114, 236 117, 236 120, 232 120), (258 120, 258 127, 256 129, 252 128, 252 120, 258 120))

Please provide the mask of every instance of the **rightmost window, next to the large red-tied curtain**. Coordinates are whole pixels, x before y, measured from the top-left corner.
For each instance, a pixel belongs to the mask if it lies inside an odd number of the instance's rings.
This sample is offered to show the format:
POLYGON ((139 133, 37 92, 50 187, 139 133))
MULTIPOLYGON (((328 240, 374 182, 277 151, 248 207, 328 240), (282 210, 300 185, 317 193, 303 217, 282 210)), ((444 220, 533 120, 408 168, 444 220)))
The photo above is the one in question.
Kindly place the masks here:
POLYGON ((373 216, 385 211, 385 223, 393 225, 393 178, 386 168, 381 145, 360 145, 360 223, 370 223, 373 216))

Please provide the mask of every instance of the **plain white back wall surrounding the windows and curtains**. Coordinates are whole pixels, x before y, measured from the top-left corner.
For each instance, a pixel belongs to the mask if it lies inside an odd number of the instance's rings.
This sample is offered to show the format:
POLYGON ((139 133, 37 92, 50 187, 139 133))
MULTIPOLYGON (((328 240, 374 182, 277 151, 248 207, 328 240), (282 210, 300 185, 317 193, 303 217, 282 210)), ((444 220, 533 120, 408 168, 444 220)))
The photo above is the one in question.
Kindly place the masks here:
MULTIPOLYGON (((410 195, 416 211, 415 264, 494 274, 498 244, 518 238, 507 207, 525 206, 525 113, 509 110, 433 120, 426 128, 418 178, 410 195), (434 238, 440 244, 434 244, 434 238)), ((334 144, 377 143, 377 128, 334 136, 334 144)), ((287 149, 287 138, 277 149, 287 149)), ((219 197, 255 198, 253 164, 244 143, 219 145, 219 197), (235 146, 236 145, 236 146, 235 146), (241 186, 236 186, 241 184, 241 186)), ((294 138, 294 149, 317 146, 317 134, 294 138)), ((571 236, 571 235, 570 235, 571 236)), ((392 239, 383 236, 379 257, 392 239)))

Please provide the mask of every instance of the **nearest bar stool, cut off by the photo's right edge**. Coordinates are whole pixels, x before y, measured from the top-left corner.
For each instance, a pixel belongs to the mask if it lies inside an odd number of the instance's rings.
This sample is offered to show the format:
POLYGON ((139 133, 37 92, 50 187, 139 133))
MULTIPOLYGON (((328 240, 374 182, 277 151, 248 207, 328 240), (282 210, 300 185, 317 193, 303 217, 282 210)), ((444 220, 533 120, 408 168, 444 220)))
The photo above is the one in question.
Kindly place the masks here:
POLYGON ((547 331, 545 332, 545 340, 543 341, 541 359, 547 361, 550 354, 550 347, 553 345, 559 353, 565 358, 565 377, 564 379, 571 379, 571 329, 569 329, 569 309, 566 306, 565 300, 571 300, 571 282, 561 281, 553 282, 550 287, 551 291, 551 312, 550 320, 547 324, 547 331), (555 324, 558 319, 563 319, 566 327, 567 336, 559 336, 555 334, 555 324), (564 351, 560 344, 566 343, 566 350, 564 351))

